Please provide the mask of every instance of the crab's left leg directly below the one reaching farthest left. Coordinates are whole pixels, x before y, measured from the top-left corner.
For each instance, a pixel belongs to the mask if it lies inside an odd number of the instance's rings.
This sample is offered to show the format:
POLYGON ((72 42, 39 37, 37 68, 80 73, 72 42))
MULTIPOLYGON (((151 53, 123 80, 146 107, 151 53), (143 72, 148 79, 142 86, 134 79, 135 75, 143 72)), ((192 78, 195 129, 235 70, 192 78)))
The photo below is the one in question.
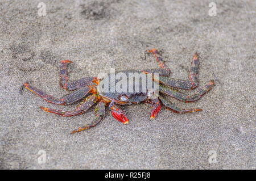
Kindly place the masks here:
POLYGON ((93 106, 94 103, 97 102, 98 96, 96 94, 89 95, 87 98, 84 99, 84 101, 79 104, 75 111, 62 111, 62 110, 53 110, 51 108, 45 108, 40 106, 40 108, 46 112, 52 112, 56 113, 57 115, 61 116, 75 116, 75 115, 80 115, 81 113, 84 113, 87 111, 90 107, 93 106))

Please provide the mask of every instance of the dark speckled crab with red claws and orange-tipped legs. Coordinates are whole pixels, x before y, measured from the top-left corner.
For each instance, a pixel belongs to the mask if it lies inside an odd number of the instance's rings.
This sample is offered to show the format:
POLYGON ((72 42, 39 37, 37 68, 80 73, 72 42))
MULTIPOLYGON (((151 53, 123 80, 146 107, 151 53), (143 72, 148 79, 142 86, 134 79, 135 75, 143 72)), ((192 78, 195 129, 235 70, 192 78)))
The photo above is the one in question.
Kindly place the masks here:
MULTIPOLYGON (((156 61, 159 64, 160 68, 156 69, 146 69, 146 70, 125 70, 119 71, 128 75, 129 73, 143 73, 150 75, 151 81, 154 83, 158 83, 158 96, 152 96, 155 94, 155 91, 151 89, 146 89, 146 91, 137 92, 120 92, 120 91, 102 91, 100 87, 102 87, 102 82, 106 82, 106 79, 110 78, 110 73, 106 74, 104 78, 98 77, 85 77, 77 79, 76 81, 68 81, 68 64, 72 63, 69 60, 61 60, 60 61, 60 87, 65 90, 72 91, 70 94, 63 96, 62 98, 55 98, 52 95, 48 95, 43 91, 32 87, 30 83, 24 83, 23 86, 34 92, 35 94, 42 97, 49 103, 60 104, 60 105, 69 105, 76 103, 77 101, 81 101, 78 106, 73 111, 63 111, 63 110, 55 110, 52 108, 40 107, 42 110, 46 112, 55 113, 60 116, 75 116, 80 115, 87 111, 90 107, 97 103, 97 106, 94 110, 96 115, 95 119, 90 124, 86 124, 83 127, 75 129, 71 133, 76 133, 80 131, 84 131, 85 129, 95 127, 100 121, 103 119, 105 115, 105 107, 109 107, 110 111, 114 117, 114 119, 120 121, 123 124, 129 123, 127 116, 125 115, 125 111, 121 109, 122 105, 131 105, 138 103, 147 103, 152 107, 150 113, 150 119, 155 119, 156 115, 158 115, 162 105, 166 107, 168 110, 171 110, 176 113, 188 113, 188 112, 197 112, 202 111, 199 108, 189 108, 183 109, 177 107, 174 103, 170 102, 164 98, 163 95, 171 96, 181 102, 194 102, 199 100, 204 94, 206 94, 212 87, 214 86, 214 81, 210 80, 204 87, 199 88, 195 94, 186 95, 183 92, 180 92, 178 89, 183 90, 193 90, 199 86, 199 82, 197 80, 197 73, 199 69, 199 55, 195 53, 191 62, 191 69, 188 74, 188 80, 182 79, 174 79, 169 77, 171 70, 168 68, 166 64, 164 64, 163 59, 158 50, 150 49, 146 50, 148 53, 152 53, 152 55, 156 58, 156 61), (153 74, 157 73, 159 76, 154 76, 153 74)), ((114 85, 117 84, 118 81, 114 82, 114 85)), ((142 88, 141 82, 135 82, 135 84, 139 85, 142 88)))

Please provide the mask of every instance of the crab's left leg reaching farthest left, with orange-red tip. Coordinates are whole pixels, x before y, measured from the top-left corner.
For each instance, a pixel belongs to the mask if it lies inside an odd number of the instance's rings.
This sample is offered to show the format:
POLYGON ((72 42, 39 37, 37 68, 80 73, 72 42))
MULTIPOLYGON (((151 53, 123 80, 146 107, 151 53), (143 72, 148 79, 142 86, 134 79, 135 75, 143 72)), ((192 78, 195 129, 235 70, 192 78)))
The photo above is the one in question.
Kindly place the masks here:
POLYGON ((29 83, 24 83, 24 87, 26 87, 26 89, 34 92, 36 95, 39 95, 41 98, 43 98, 44 100, 46 100, 49 103, 68 105, 68 104, 72 104, 72 103, 76 102, 77 100, 84 98, 84 96, 86 96, 90 91, 92 91, 93 84, 94 83, 91 83, 88 86, 82 87, 81 89, 78 89, 78 90, 72 92, 71 94, 65 95, 60 99, 57 99, 57 98, 53 97, 52 95, 45 94, 43 91, 40 91, 40 90, 36 89, 35 87, 32 87, 29 83))

